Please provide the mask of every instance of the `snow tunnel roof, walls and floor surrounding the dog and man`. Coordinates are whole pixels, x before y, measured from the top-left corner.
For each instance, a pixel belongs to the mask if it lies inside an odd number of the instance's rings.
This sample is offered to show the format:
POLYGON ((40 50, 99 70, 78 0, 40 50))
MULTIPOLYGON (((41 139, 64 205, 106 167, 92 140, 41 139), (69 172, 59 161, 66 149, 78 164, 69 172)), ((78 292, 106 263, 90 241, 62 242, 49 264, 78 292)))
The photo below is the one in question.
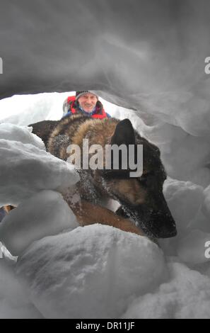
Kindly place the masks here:
MULTIPOLYGON (((17 208, 6 217, 11 225, 7 232, 10 235, 17 220, 21 227, 29 219, 30 225, 42 219, 49 225, 63 210, 60 223, 71 220, 74 234, 57 235, 54 220, 57 236, 33 244, 18 268, 0 259, 0 317, 210 317, 205 256, 210 240, 209 12, 208 0, 1 0, 0 205, 28 202, 27 209, 17 208), (161 150, 168 174, 165 199, 178 230, 174 239, 161 241, 161 249, 92 226, 87 235, 96 239, 93 254, 93 243, 54 192, 66 182, 74 185, 74 171, 46 157, 43 142, 26 126, 61 118, 66 96, 82 90, 96 91, 110 115, 129 118, 161 150), (21 161, 29 155, 38 162, 24 182, 21 161), (11 184, 16 184, 18 196, 11 184), (37 205, 48 208, 37 211, 37 205), (77 241, 69 245, 74 235, 81 239, 81 248, 77 241), (111 243, 115 247, 109 252, 111 243), (78 254, 77 259, 71 254, 78 254), (62 276, 65 269, 71 273, 68 264, 76 266, 78 280, 62 276), (28 272, 30 297, 20 288, 17 272, 22 277, 28 272), (60 282, 57 291, 50 272, 60 282), (12 288, 4 288, 6 280, 12 288)), ((35 232, 39 237, 39 230, 35 232)), ((25 239, 24 233, 20 239, 25 239)))

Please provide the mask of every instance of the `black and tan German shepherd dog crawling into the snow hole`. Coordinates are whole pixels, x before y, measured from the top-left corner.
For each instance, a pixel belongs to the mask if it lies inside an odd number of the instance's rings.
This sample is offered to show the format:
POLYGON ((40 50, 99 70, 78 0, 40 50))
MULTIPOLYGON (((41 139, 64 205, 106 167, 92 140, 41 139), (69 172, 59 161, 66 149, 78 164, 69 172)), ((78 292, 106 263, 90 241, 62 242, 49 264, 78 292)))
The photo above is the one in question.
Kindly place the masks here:
POLYGON ((141 137, 129 119, 96 120, 86 115, 71 115, 59 121, 44 120, 29 125, 41 137, 47 151, 67 160, 67 147, 83 139, 90 145, 143 145, 143 174, 130 178, 129 170, 83 169, 74 191, 62 193, 81 225, 102 223, 119 229, 146 235, 152 239, 174 237, 175 221, 163 196, 165 169, 160 150, 141 137), (75 201, 75 194, 78 201, 75 201), (74 197, 74 200, 72 198, 74 197), (112 198, 120 207, 116 212, 100 205, 101 198, 112 198))

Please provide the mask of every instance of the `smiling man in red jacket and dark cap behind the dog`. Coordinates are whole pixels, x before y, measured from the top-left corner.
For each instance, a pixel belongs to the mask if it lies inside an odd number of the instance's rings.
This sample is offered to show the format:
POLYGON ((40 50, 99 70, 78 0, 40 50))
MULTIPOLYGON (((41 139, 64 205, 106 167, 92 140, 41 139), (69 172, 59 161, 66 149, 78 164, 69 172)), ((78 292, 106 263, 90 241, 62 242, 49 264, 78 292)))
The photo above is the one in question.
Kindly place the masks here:
POLYGON ((76 91, 76 96, 67 97, 64 101, 63 110, 64 117, 83 113, 91 118, 110 118, 110 115, 105 113, 103 104, 98 101, 98 96, 95 92, 88 90, 76 91))

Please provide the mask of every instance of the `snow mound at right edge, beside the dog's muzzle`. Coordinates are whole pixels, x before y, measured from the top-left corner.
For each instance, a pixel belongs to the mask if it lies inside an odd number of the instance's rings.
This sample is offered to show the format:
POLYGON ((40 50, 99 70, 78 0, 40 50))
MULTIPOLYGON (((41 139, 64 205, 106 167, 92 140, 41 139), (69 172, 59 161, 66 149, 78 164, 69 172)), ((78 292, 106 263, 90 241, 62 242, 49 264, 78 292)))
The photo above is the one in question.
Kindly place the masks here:
MULTIPOLYGON (((210 239, 209 216, 203 213, 208 191, 190 181, 168 178, 163 184, 165 200, 177 225, 177 236, 161 239, 167 255, 177 255, 189 264, 202 264, 206 260, 205 242, 210 239)), ((205 210, 206 211, 206 210, 205 210)))

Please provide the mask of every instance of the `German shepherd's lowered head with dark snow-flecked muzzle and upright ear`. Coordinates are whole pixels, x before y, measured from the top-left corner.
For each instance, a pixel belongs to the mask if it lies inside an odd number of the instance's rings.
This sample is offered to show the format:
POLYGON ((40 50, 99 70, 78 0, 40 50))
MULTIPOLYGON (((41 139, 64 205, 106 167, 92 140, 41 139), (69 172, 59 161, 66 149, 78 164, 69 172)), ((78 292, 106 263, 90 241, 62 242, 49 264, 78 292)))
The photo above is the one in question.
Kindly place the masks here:
MULTIPOLYGON (((119 201, 124 212, 144 230, 146 235, 156 238, 174 237, 177 230, 163 196, 163 182, 166 174, 158 147, 140 137, 128 119, 117 124, 110 143, 127 147, 134 145, 135 163, 138 162, 137 145, 142 145, 143 173, 140 176, 131 177, 132 170, 129 166, 127 169, 122 169, 122 159, 119 158, 119 169, 111 167, 111 169, 97 171, 102 179, 103 190, 119 201)), ((129 152, 129 149, 127 151, 129 152)))

